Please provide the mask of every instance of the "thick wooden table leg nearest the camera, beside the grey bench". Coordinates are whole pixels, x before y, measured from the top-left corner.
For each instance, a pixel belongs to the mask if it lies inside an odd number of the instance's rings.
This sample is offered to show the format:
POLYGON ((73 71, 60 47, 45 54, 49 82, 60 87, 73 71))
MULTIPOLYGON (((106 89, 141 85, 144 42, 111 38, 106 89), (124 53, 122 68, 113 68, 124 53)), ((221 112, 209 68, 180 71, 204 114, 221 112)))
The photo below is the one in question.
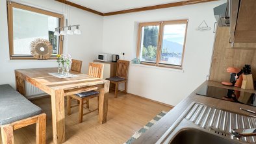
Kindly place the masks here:
POLYGON ((53 143, 65 142, 64 90, 55 90, 51 94, 53 121, 53 143))

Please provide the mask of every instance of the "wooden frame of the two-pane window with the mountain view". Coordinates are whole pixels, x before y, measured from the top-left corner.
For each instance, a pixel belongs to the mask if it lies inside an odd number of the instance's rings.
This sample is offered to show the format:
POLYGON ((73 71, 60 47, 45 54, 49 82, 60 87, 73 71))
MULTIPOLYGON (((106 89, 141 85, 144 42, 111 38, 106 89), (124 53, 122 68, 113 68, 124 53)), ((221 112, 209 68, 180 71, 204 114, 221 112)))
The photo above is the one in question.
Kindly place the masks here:
POLYGON ((171 21, 155 21, 155 22, 146 22, 146 23, 139 23, 138 28, 138 41, 137 41, 137 58, 140 59, 141 54, 141 42, 142 42, 142 27, 146 26, 157 26, 159 25, 159 36, 157 41, 157 56, 156 62, 141 62, 141 64, 149 65, 149 66, 158 66, 158 67, 169 67, 174 69, 183 69, 183 60, 184 60, 184 53, 185 53, 185 45, 186 45, 186 33, 188 29, 188 19, 179 19, 179 20, 171 20, 171 21), (181 66, 176 66, 173 64, 162 64, 160 63, 160 56, 162 53, 162 41, 163 41, 163 33, 164 33, 164 25, 174 25, 174 24, 186 24, 185 29, 185 38, 183 42, 183 53, 181 58, 181 66))

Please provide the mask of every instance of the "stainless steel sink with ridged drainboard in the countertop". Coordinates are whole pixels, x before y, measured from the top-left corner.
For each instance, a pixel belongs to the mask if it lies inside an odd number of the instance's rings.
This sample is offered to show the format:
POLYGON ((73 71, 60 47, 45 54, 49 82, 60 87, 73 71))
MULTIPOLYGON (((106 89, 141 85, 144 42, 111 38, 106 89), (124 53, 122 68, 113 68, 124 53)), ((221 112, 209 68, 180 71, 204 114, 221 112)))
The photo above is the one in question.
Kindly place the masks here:
POLYGON ((157 143, 256 143, 256 137, 235 138, 234 128, 256 128, 256 118, 192 103, 157 143))

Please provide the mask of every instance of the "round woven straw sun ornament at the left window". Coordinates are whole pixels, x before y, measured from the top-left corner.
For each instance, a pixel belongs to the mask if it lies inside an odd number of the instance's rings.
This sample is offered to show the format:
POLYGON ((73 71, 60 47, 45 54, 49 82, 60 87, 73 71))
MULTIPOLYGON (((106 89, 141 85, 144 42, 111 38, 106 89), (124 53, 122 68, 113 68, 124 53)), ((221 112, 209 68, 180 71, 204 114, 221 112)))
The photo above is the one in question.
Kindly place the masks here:
POLYGON ((53 53, 53 45, 43 38, 37 38, 31 42, 31 54, 38 60, 46 60, 53 53))

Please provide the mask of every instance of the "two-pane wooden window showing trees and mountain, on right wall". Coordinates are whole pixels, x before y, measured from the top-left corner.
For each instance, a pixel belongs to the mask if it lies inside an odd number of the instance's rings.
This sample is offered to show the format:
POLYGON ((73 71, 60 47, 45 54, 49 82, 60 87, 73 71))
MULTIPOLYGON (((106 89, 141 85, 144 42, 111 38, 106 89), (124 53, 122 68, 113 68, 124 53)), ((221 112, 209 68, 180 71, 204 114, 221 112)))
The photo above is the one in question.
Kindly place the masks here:
POLYGON ((142 64, 182 69, 188 20, 140 23, 137 57, 142 64))

